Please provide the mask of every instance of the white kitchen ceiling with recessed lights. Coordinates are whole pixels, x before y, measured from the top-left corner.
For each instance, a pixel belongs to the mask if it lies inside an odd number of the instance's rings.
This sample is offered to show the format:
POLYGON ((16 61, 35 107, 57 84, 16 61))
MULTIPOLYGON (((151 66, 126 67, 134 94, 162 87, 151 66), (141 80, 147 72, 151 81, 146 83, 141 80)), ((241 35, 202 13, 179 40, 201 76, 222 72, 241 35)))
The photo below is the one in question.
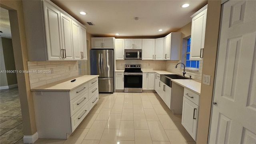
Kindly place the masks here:
POLYGON ((94 36, 160 37, 189 22, 190 16, 207 4, 207 0, 52 0, 80 21, 94 36), (190 6, 182 8, 181 5, 190 6), (87 12, 81 15, 80 12, 87 12), (139 20, 134 20, 138 17, 139 20), (93 22, 89 26, 86 22, 93 22), (158 32, 162 29, 162 32, 158 32))

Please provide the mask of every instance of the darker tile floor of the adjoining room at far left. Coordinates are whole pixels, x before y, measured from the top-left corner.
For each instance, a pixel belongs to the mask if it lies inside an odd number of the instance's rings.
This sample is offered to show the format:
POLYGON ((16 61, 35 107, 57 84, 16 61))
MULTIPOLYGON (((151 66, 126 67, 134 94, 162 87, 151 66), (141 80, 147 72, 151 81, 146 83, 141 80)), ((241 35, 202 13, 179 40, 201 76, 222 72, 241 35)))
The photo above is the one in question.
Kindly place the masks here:
POLYGON ((23 144, 18 88, 0 91, 0 144, 23 144))

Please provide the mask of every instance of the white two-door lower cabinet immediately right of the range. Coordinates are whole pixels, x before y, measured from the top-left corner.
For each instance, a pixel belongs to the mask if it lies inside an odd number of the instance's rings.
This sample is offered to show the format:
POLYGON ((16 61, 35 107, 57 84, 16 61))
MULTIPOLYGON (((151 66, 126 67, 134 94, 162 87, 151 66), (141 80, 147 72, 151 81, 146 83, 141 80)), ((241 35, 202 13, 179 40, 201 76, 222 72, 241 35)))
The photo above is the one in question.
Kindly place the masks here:
POLYGON ((143 72, 142 90, 155 90, 155 73, 143 72))

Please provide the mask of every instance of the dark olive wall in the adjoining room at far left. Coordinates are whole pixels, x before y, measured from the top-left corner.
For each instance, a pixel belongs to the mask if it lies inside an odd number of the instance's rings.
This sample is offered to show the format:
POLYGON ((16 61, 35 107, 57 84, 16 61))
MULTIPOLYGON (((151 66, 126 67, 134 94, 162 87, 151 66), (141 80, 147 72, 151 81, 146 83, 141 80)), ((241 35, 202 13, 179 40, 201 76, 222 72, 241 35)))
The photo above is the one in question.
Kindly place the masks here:
MULTIPOLYGON (((15 70, 15 62, 12 48, 12 39, 2 38, 2 46, 4 52, 4 63, 6 70, 15 70)), ((6 73, 8 86, 17 84, 16 73, 6 73)))

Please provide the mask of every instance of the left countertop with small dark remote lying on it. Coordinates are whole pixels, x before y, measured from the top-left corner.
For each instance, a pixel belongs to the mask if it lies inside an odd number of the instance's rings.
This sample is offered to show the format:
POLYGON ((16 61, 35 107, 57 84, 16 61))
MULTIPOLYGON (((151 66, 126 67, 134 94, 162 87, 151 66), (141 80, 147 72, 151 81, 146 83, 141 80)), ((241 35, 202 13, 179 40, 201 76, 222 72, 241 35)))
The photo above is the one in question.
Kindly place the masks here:
POLYGON ((81 86, 82 84, 97 78, 99 75, 85 75, 85 76, 74 76, 71 78, 67 78, 65 80, 60 80, 58 82, 53 82, 51 84, 46 84, 44 86, 39 86, 37 88, 30 89, 31 91, 71 91, 75 88, 81 86), (70 82, 71 80, 76 79, 74 82, 70 82))

